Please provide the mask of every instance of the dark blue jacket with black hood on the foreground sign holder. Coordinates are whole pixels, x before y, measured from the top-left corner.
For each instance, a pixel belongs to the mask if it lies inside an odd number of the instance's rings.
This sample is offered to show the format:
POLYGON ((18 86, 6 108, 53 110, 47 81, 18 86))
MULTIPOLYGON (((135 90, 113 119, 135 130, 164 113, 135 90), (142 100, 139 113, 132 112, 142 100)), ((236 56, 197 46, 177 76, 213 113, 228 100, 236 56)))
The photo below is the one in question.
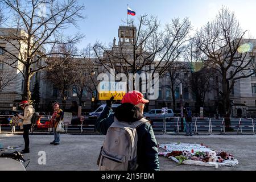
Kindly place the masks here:
MULTIPOLYGON (((106 106, 100 117, 97 119, 95 127, 101 134, 106 135, 109 127, 114 122, 114 117, 118 121, 134 122, 142 118, 141 112, 131 109, 136 107, 132 104, 122 104, 117 107, 115 114, 112 114, 112 107, 106 106)), ((149 122, 137 128, 137 171, 159 171, 158 147, 155 134, 149 122)))

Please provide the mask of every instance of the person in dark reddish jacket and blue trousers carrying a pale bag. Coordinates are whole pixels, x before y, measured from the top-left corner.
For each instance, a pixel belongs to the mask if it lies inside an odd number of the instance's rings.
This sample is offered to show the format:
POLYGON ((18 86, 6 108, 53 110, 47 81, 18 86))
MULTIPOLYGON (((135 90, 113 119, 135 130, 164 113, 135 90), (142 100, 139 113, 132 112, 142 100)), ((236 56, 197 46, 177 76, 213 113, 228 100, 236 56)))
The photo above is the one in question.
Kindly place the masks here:
POLYGON ((60 144, 60 132, 56 132, 56 128, 60 121, 64 118, 63 110, 60 109, 59 104, 53 105, 53 114, 51 119, 51 126, 53 128, 54 140, 50 144, 54 144, 55 146, 60 144))

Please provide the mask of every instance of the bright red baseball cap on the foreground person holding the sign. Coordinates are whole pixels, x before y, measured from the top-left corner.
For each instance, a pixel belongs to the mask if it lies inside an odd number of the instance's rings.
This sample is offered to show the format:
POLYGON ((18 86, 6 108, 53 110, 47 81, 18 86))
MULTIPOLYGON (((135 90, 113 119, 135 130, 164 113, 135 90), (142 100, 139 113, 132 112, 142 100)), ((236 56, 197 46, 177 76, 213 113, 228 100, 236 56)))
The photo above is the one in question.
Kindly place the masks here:
POLYGON ((140 103, 148 103, 149 101, 144 99, 144 96, 141 92, 139 91, 131 91, 125 94, 122 99, 122 104, 123 103, 131 103, 133 105, 137 105, 140 103))

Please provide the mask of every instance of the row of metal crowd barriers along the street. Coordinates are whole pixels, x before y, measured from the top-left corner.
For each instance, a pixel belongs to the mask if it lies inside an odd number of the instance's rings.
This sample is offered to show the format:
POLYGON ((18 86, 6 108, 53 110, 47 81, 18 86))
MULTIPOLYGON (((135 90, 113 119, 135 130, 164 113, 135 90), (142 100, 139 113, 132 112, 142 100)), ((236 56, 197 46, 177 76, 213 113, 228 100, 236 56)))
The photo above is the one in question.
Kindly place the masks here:
MULTIPOLYGON (((255 121, 256 118, 193 118, 193 133, 226 134, 229 132, 236 134, 255 134, 255 121), (230 119, 230 126, 225 126, 225 119, 230 119), (231 130, 226 131, 227 128, 231 130)), ((180 117, 153 119, 151 121, 151 125, 155 133, 180 134, 184 131, 181 130, 182 126, 180 117)), ((11 134, 15 134, 16 129, 19 129, 19 126, 16 125, 0 125, 0 134, 2 133, 2 127, 4 127, 4 130, 10 131, 11 134)), ((64 130, 66 134, 69 132, 84 133, 85 130, 91 130, 93 133, 96 132, 94 125, 91 123, 81 125, 70 125, 69 123, 64 123, 64 130)), ((31 129, 31 133, 39 133, 39 131, 41 130, 31 129)), ((46 126, 44 133, 52 133, 52 130, 46 126)))

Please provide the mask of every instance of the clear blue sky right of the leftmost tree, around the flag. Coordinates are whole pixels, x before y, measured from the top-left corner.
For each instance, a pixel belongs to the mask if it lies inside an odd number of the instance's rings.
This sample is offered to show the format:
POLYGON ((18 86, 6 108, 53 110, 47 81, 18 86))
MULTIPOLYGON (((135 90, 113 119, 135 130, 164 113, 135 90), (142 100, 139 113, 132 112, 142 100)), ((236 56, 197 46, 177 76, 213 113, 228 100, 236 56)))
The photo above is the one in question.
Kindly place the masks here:
MULTIPOLYGON (((152 14, 158 16, 162 26, 174 17, 191 20, 194 30, 202 27, 213 19, 221 6, 227 6, 237 16, 243 30, 249 30, 250 36, 256 38, 256 1, 255 0, 80 0, 84 3, 86 19, 79 22, 80 32, 85 34, 79 48, 87 44, 94 44, 97 40, 102 43, 113 42, 118 36, 118 27, 125 25, 122 22, 127 18, 127 4, 139 15, 152 14)), ((67 30, 68 34, 74 28, 67 30)))

